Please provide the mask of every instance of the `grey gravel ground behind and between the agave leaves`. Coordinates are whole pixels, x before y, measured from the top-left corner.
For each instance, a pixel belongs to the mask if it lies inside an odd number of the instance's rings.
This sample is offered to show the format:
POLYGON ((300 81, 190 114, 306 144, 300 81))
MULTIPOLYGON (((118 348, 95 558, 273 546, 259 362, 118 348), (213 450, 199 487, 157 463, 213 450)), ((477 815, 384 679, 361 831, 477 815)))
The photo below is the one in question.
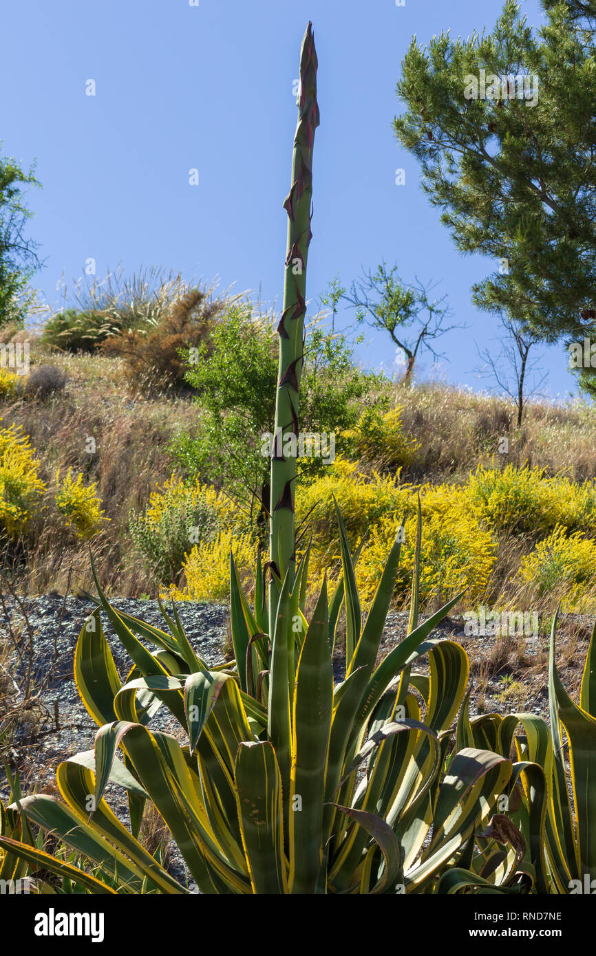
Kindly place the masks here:
MULTIPOLYGON (((113 603, 118 610, 166 629, 155 600, 115 598, 113 603)), ((11 766, 21 774, 24 793, 33 793, 33 790, 56 793, 55 767, 59 761, 93 747, 96 728, 77 694, 73 658, 80 628, 94 608, 95 605, 84 597, 27 599, 27 616, 34 647, 33 694, 40 684, 44 684, 44 687, 38 700, 33 701, 26 711, 26 717, 19 721, 12 742, 11 766)), ((8 610, 14 628, 20 619, 19 614, 12 613, 11 605, 8 605, 8 610)), ((180 602, 178 611, 188 639, 201 657, 211 665, 223 660, 229 625, 228 608, 180 602)), ((106 639, 123 681, 131 662, 104 615, 102 619, 106 639)), ((7 620, 6 614, 0 611, 0 637, 6 637, 7 620)), ((407 624, 406 613, 393 612, 387 616, 380 659, 403 640, 407 624)), ((561 619, 558 640, 560 673, 563 684, 576 698, 593 624, 594 619, 585 616, 565 615, 561 619)), ((467 637, 463 627, 463 619, 446 618, 435 634, 440 632, 444 638, 461 643, 468 652, 473 684, 471 714, 531 710, 548 719, 546 636, 541 634, 522 641, 514 640, 511 653, 505 655, 503 661, 502 655, 496 653, 495 637, 467 637)), ((27 631, 22 631, 26 644, 27 631)), ((425 659, 415 669, 428 671, 425 659)), ((340 655, 334 659, 334 670, 336 681, 341 681, 343 662, 340 655)), ((180 731, 166 707, 161 707, 153 717, 151 727, 170 733, 180 731)), ((3 771, 0 771, 0 797, 6 800, 8 795, 7 780, 3 771)), ((116 815, 126 824, 128 810, 121 789, 110 787, 106 791, 106 798, 116 815)), ((169 868, 178 879, 185 879, 184 862, 174 844, 169 868)))

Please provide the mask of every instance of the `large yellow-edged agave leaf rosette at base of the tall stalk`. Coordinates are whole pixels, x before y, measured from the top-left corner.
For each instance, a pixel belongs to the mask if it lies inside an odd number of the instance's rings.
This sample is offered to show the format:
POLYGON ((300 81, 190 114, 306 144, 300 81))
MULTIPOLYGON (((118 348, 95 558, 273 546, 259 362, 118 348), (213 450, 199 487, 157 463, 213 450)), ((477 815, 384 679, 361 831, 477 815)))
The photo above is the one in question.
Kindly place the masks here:
POLYGON ((216 669, 192 650, 175 608, 172 618, 164 609, 168 632, 150 627, 116 611, 96 577, 99 607, 81 629, 75 655, 81 700, 99 725, 95 750, 59 765, 62 800, 33 794, 3 812, 0 845, 12 860, 83 884, 72 864, 15 839, 19 823, 22 832, 34 824, 92 861, 91 892, 98 881, 103 892, 115 885, 120 892, 187 892, 138 839, 149 799, 204 893, 433 892, 455 864, 469 885, 523 889, 516 847, 494 880, 470 869, 476 836, 483 838, 481 828, 518 771, 486 748, 453 750, 450 728, 469 662, 460 645, 431 632, 457 597, 420 623, 416 566, 408 637, 377 664, 401 537, 363 626, 340 516, 339 524, 343 583, 329 604, 323 581, 304 625, 305 558, 292 588, 284 578, 271 640, 237 585, 232 561, 236 659, 216 669), (347 667, 334 686, 342 597, 347 667), (134 663, 123 685, 99 608, 134 663), (151 653, 140 638, 158 649, 151 653), (268 664, 256 679, 253 654, 268 664), (429 674, 412 674, 423 655, 429 674), (161 705, 181 734, 150 728, 161 705), (126 790, 130 831, 104 798, 108 781, 126 790))

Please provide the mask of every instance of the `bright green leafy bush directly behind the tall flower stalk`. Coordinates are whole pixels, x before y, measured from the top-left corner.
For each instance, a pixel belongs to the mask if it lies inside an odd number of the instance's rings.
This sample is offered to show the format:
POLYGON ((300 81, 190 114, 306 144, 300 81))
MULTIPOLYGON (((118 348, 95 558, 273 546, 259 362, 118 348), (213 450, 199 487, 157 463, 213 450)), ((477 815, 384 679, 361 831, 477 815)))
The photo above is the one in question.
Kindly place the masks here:
MULTIPOLYGON (((276 342, 273 315, 254 316, 246 302, 234 305, 226 322, 217 324, 199 346, 194 362, 188 361, 187 380, 197 390, 201 417, 195 434, 183 433, 172 445, 176 461, 190 476, 249 502, 252 515, 262 516, 269 508, 271 462, 269 453, 263 453, 262 436, 274 430, 276 342)), ((386 380, 356 368, 345 337, 331 335, 317 323, 307 332, 304 356, 308 364, 300 382, 299 430, 305 435, 334 433, 339 454, 351 447, 348 433, 364 408, 386 410, 386 380)), ((323 454, 300 457, 300 480, 324 473, 324 463, 323 454)))

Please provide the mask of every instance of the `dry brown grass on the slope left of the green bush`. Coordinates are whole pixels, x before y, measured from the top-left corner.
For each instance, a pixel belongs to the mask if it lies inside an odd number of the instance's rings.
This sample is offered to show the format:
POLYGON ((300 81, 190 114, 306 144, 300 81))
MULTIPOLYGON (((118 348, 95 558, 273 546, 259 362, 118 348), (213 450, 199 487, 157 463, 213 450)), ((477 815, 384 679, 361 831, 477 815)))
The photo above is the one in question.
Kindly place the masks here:
MULTIPOLYGON (((146 505, 156 484, 171 474, 168 445, 196 420, 188 401, 157 396, 145 399, 127 392, 121 359, 101 355, 54 354, 38 341, 31 345, 33 368, 52 361, 67 377, 66 388, 44 401, 18 399, 0 405, 3 426, 21 425, 41 462, 40 477, 52 493, 55 472, 73 468, 83 481, 97 482, 110 523, 94 538, 103 583, 114 593, 138 597, 155 590, 128 531, 128 515, 146 505), (90 451, 95 443, 95 450, 90 451)), ((27 563, 15 567, 20 590, 64 592, 72 575, 75 590, 91 586, 89 548, 54 527, 40 510, 33 516, 27 563)))

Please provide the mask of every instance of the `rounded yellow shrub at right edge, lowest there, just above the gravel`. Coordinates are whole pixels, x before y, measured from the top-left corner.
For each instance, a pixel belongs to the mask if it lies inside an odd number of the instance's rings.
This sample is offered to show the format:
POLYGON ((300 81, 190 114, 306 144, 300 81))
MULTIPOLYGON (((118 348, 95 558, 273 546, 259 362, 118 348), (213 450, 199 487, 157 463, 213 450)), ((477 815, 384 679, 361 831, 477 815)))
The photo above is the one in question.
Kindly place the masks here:
POLYGON ((585 611, 593 605, 589 591, 596 585, 596 541, 583 532, 568 534, 563 525, 557 525, 531 554, 521 558, 518 578, 537 597, 560 595, 563 611, 585 611))

